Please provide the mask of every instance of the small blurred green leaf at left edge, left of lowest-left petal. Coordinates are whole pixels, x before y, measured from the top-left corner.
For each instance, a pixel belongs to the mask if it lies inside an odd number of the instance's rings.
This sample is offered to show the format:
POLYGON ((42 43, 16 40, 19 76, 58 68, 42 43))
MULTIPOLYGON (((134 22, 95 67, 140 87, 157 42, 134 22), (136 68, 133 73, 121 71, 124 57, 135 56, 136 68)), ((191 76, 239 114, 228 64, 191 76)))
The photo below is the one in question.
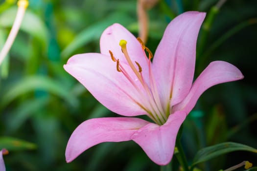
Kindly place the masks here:
POLYGON ((0 149, 7 150, 34 150, 36 149, 36 144, 13 138, 13 137, 0 137, 0 149))

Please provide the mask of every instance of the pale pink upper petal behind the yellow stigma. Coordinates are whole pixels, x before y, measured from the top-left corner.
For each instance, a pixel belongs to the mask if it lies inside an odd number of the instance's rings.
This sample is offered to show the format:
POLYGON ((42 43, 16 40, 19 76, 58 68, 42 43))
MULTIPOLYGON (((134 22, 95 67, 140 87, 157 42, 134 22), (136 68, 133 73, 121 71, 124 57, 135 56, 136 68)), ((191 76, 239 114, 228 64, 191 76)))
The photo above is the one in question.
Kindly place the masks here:
MULTIPOLYGON (((142 67, 142 74, 148 82, 148 63, 145 60, 145 53, 136 37, 122 25, 115 23, 104 30, 100 39, 100 50, 102 54, 110 55, 111 50, 115 58, 126 63, 126 59, 119 46, 120 40, 127 41, 127 50, 132 62, 137 61, 142 67)), ((137 67, 137 65, 135 64, 137 67)))

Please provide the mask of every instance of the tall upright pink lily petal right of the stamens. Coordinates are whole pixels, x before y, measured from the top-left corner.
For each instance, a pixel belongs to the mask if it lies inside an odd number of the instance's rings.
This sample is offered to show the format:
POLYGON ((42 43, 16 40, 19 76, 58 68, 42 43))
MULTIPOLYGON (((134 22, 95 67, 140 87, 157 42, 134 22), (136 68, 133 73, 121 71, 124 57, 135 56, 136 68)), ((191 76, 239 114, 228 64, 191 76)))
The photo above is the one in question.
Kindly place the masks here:
MULTIPOLYGON (((153 73, 159 83, 161 99, 171 106, 181 102, 192 85, 196 41, 205 13, 185 12, 167 26, 153 59, 153 73)), ((166 105, 166 104, 165 104, 166 105)))

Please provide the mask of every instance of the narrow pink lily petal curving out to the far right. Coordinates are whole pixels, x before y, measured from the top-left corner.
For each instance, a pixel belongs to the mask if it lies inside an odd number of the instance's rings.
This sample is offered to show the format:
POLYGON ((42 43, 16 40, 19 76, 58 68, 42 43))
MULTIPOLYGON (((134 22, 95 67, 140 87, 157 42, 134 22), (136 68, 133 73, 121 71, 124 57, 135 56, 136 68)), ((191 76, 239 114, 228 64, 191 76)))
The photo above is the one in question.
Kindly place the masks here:
POLYGON ((224 61, 214 61, 210 63, 200 76, 195 80, 187 97, 173 111, 183 110, 187 114, 195 106, 200 95, 213 85, 243 79, 244 76, 233 64, 224 61))

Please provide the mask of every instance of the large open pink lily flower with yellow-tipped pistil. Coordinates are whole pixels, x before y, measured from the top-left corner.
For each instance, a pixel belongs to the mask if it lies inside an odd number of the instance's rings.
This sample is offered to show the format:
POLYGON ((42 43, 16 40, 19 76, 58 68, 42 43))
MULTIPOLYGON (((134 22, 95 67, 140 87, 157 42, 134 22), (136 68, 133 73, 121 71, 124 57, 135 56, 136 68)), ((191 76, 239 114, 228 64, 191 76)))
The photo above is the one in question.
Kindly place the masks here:
POLYGON ((105 107, 123 116, 95 118, 70 136, 66 161, 102 142, 133 140, 158 165, 170 162, 178 130, 210 86, 243 78, 234 65, 209 64, 193 81, 196 41, 205 13, 186 12, 167 26, 153 62, 150 50, 119 24, 100 39, 101 53, 71 57, 64 68, 105 107), (149 54, 147 58, 145 51, 149 54), (139 118, 149 116, 154 123, 139 118))

